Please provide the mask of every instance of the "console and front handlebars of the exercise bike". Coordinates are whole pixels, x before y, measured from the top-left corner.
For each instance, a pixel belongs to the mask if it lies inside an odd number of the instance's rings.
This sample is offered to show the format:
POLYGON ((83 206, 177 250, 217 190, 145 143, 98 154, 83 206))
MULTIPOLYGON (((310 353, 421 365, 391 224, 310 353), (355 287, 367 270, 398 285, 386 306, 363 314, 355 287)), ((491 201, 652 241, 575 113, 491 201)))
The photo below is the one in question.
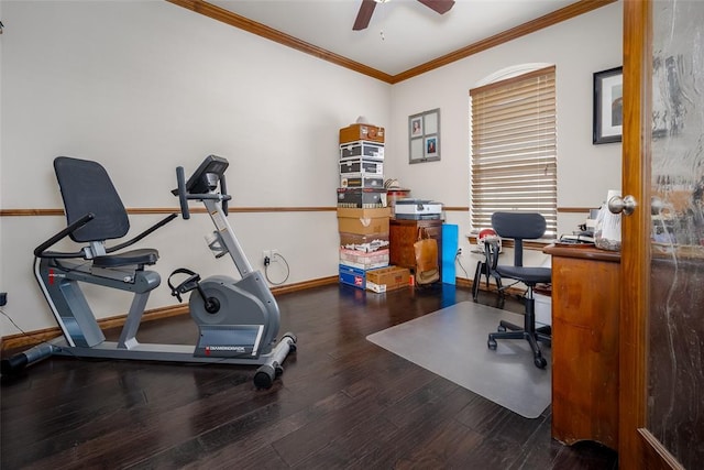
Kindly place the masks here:
POLYGON ((178 187, 172 190, 172 194, 178 196, 184 219, 190 218, 189 199, 219 199, 222 201, 222 211, 226 216, 228 215, 228 200, 231 199, 231 196, 228 195, 224 172, 229 165, 230 163, 221 156, 208 155, 187 182, 184 176, 184 167, 176 168, 178 187), (220 185, 220 194, 217 193, 218 184, 220 185))

